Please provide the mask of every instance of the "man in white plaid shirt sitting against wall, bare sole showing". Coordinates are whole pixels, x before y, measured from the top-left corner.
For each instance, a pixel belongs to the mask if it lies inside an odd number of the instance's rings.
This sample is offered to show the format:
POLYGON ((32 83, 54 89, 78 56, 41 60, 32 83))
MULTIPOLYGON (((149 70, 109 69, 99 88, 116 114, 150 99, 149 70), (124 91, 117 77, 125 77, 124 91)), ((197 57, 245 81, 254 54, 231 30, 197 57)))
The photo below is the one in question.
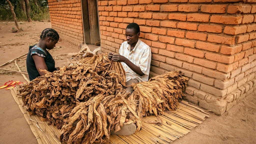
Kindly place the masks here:
MULTIPOLYGON (((133 92, 132 83, 148 81, 151 49, 148 45, 139 40, 140 27, 136 23, 129 24, 125 29, 126 41, 122 43, 119 54, 109 53, 108 58, 113 61, 121 62, 126 77, 126 92, 133 92)), ((125 119, 125 122, 128 122, 125 119)), ((121 130, 112 132, 115 135, 131 135, 135 132, 136 125, 124 125, 121 130)))

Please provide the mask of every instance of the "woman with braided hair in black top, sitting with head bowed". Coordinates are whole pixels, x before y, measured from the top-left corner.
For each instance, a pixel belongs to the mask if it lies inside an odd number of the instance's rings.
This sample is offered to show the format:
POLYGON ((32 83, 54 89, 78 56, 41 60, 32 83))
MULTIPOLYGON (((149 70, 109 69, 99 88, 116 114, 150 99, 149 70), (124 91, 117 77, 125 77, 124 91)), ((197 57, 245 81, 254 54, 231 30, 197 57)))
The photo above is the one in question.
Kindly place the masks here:
POLYGON ((55 67, 55 61, 51 54, 46 50, 53 49, 58 41, 59 34, 52 28, 46 28, 40 35, 39 43, 29 46, 26 65, 30 81, 45 75, 39 69, 45 69, 50 72, 59 70, 58 67, 55 67))

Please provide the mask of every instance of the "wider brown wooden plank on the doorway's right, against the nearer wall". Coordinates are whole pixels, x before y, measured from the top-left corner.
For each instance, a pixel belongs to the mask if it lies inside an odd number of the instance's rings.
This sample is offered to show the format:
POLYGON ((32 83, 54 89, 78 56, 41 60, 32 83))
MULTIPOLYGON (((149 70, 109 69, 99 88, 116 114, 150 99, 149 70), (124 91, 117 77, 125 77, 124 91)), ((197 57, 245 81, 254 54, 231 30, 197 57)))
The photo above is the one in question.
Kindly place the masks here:
POLYGON ((97 1, 87 0, 87 3, 88 3, 89 26, 90 26, 90 41, 91 41, 91 44, 94 44, 100 41, 97 1))

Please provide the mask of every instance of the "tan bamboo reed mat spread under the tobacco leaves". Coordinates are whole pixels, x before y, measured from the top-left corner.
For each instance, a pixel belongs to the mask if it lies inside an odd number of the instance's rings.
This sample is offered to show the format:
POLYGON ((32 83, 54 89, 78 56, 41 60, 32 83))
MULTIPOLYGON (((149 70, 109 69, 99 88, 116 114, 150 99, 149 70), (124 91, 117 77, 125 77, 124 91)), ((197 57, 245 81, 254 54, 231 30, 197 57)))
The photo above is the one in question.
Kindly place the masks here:
MULTIPOLYGON (((17 97, 17 90, 17 86, 10 89, 14 100, 18 104, 20 111, 34 133, 38 143, 61 144, 61 142, 58 141, 60 130, 56 129, 54 126, 47 125, 48 122, 41 121, 40 117, 37 115, 29 115, 25 110, 26 106, 23 107, 22 98, 17 97)), ((156 121, 157 118, 155 116, 144 117, 141 131, 130 136, 111 135, 110 142, 120 144, 170 143, 186 135, 190 129, 201 124, 205 118, 209 116, 210 114, 204 110, 189 105, 186 101, 181 101, 178 104, 177 110, 165 111, 164 115, 160 116, 163 121, 162 125, 146 123, 147 121, 156 121)), ((63 143, 66 144, 65 142, 63 143)))

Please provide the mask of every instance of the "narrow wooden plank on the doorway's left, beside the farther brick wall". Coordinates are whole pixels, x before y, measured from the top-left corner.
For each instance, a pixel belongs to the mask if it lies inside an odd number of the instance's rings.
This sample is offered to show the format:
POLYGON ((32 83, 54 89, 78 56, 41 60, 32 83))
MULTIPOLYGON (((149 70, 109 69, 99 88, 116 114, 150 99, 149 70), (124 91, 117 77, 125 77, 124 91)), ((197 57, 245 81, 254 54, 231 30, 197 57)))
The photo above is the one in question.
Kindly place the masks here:
POLYGON ((90 26, 87 1, 81 1, 84 43, 90 44, 90 26))

